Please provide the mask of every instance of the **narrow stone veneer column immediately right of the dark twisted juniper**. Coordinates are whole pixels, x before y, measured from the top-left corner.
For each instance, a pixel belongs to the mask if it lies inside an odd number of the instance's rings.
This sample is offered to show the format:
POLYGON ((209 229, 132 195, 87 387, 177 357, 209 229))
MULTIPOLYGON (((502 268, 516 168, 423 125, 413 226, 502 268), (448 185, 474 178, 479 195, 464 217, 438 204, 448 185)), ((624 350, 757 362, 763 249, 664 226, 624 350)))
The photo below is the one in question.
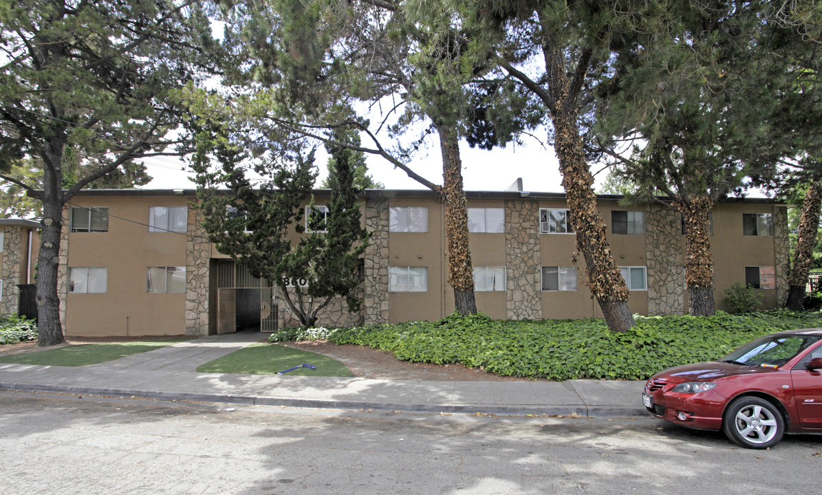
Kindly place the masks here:
POLYGON ((364 323, 388 323, 388 199, 369 199, 365 206, 365 228, 371 241, 365 250, 363 282, 364 323))

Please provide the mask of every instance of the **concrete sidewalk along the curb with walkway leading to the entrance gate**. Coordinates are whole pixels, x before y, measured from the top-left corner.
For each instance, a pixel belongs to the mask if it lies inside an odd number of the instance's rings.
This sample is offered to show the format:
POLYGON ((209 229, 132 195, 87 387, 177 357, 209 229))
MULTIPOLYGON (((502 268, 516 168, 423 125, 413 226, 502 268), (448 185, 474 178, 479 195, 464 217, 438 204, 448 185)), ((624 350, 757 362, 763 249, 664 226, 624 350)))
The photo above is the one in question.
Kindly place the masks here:
POLYGON ((456 382, 194 371, 260 338, 255 332, 212 335, 108 363, 73 368, 0 363, 0 390, 406 412, 647 414, 640 396, 644 382, 634 381, 456 382))

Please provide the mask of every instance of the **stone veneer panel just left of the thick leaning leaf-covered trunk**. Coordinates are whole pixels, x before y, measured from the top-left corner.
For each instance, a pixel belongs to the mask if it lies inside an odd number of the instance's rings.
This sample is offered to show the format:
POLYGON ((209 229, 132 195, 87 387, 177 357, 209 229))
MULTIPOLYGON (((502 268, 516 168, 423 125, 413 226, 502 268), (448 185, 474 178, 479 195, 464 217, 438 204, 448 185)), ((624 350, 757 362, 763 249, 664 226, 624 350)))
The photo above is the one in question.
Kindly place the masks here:
POLYGON ((506 200, 506 265, 508 319, 543 317, 539 286, 539 202, 506 200))

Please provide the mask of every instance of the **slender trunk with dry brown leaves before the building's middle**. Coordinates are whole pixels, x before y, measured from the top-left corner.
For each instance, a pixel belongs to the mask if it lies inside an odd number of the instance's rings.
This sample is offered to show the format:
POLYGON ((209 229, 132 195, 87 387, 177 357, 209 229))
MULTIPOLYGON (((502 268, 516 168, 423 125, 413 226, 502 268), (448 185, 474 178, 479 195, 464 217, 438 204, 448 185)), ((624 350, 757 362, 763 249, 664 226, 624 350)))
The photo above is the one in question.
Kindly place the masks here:
POLYGON ((441 198, 446 207, 448 283, 454 287, 454 304, 459 314, 477 314, 459 141, 455 129, 438 126, 437 131, 442 152, 441 198))

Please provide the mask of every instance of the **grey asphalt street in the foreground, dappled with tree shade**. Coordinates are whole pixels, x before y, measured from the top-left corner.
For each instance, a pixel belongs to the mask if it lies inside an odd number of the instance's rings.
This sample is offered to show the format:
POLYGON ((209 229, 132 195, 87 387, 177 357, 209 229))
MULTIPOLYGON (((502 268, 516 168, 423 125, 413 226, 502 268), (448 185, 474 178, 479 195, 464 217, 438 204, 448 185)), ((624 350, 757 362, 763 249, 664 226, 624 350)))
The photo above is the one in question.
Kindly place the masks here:
POLYGON ((820 493, 822 437, 0 392, 0 493, 820 493))

